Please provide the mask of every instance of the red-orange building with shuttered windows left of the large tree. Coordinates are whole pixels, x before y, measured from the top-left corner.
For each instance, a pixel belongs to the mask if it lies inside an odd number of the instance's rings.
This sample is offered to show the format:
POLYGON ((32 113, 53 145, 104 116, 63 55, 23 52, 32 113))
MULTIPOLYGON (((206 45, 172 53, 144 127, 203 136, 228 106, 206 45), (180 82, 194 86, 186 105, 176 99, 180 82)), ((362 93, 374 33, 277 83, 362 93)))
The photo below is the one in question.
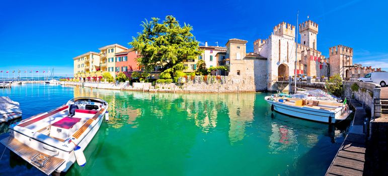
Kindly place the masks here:
POLYGON ((115 54, 115 72, 123 72, 129 77, 128 71, 139 71, 140 66, 137 64, 137 52, 132 48, 116 52, 115 54))

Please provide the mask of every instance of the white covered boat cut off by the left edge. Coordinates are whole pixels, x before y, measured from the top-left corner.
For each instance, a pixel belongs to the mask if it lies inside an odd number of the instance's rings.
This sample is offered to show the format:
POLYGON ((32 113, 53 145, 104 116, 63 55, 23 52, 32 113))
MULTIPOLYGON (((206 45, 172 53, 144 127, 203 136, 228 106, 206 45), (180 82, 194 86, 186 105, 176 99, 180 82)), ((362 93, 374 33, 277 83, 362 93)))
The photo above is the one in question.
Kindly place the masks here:
POLYGON ((0 122, 7 122, 22 117, 22 110, 18 102, 9 97, 0 97, 0 122))

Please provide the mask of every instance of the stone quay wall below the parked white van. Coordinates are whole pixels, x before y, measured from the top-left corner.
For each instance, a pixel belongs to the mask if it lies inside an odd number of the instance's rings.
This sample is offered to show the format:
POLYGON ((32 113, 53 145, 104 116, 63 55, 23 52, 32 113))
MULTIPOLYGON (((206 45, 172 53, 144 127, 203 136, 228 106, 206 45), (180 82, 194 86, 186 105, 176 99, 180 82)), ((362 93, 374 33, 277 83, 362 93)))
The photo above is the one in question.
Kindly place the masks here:
MULTIPOLYGON (((343 90, 344 97, 354 98, 362 103, 365 103, 365 106, 371 109, 372 115, 374 112, 373 107, 373 98, 380 98, 380 85, 372 82, 359 82, 359 81, 343 81, 343 90), (352 91, 351 86, 356 83, 358 85, 358 91, 352 91)), ((376 106, 376 111, 379 111, 381 107, 376 106)), ((380 117, 379 114, 376 114, 377 117, 380 117)))

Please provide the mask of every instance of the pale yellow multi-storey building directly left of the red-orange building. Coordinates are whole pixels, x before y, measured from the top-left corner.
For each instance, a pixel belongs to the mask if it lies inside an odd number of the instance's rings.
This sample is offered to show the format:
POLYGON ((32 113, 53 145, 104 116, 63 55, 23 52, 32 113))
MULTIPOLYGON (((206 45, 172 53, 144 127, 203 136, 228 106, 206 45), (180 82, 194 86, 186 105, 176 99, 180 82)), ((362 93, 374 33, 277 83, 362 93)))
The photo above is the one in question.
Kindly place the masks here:
POLYGON ((99 48, 101 71, 108 71, 114 78, 116 77, 116 57, 115 53, 127 50, 128 48, 119 44, 108 45, 99 48))

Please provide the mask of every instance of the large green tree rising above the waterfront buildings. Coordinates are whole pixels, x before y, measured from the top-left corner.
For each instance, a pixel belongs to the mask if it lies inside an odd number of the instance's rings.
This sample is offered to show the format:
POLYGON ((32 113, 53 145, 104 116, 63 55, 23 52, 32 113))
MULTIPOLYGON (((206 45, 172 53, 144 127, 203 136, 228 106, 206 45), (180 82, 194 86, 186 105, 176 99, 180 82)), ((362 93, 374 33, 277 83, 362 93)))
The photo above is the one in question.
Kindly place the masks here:
POLYGON ((140 54, 137 61, 146 71, 152 71, 156 66, 164 71, 201 54, 198 41, 190 32, 192 26, 185 23, 182 27, 173 16, 166 16, 162 23, 159 20, 151 18, 151 21, 142 22, 143 31, 129 42, 140 54))

